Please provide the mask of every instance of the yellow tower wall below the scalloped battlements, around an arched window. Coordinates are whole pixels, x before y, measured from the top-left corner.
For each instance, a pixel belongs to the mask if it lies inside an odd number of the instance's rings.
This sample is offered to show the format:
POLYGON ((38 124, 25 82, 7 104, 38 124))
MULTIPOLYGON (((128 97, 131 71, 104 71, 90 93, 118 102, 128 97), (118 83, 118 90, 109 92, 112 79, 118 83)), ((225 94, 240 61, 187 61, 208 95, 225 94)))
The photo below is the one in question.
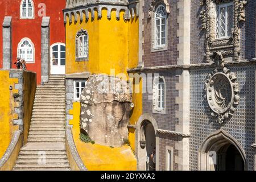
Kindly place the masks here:
MULTIPOLYGON (((94 16, 97 17, 97 11, 94 16)), ((115 19, 115 10, 112 18, 107 18, 107 10, 102 9, 102 18, 85 20, 66 24, 66 74, 71 73, 106 73, 115 69, 115 74, 127 74, 127 68, 135 68, 138 64, 138 18, 125 21, 124 12, 120 19, 115 19), (76 34, 81 29, 86 30, 89 36, 89 60, 76 61, 76 34)), ((80 19, 78 15, 77 19, 80 19)), ((69 20, 67 21, 69 22, 69 20)))

